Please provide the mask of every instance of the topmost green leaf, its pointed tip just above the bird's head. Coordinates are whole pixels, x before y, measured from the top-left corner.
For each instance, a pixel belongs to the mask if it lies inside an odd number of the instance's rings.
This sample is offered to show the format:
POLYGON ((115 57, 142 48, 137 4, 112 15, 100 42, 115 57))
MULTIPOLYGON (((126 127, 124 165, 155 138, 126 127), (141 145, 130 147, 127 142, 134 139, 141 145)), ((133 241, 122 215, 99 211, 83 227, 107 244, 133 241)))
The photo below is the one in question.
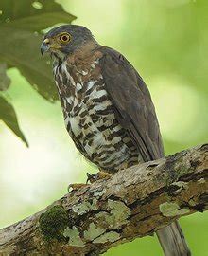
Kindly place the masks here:
POLYGON ((55 1, 1 0, 0 23, 30 31, 41 31, 58 23, 70 23, 76 17, 55 1))

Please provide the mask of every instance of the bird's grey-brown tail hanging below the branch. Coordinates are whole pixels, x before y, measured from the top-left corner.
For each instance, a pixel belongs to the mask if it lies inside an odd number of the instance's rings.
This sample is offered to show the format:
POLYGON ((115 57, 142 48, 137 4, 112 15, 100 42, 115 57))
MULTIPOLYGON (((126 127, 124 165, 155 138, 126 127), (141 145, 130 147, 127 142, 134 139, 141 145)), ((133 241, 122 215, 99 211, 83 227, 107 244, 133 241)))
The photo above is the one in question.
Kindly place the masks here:
POLYGON ((158 230, 156 233, 165 256, 191 256, 178 221, 158 230))

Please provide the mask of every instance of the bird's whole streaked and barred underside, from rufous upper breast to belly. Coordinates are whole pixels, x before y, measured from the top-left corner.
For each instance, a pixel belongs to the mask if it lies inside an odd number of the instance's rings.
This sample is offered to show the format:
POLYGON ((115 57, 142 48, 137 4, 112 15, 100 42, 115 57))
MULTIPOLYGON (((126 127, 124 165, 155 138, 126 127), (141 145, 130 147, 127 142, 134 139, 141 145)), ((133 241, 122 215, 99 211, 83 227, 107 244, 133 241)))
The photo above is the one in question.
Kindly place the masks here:
POLYGON ((99 57, 82 65, 66 60, 55 66, 54 76, 65 126, 78 151, 109 173, 137 163, 139 152, 116 120, 99 57))

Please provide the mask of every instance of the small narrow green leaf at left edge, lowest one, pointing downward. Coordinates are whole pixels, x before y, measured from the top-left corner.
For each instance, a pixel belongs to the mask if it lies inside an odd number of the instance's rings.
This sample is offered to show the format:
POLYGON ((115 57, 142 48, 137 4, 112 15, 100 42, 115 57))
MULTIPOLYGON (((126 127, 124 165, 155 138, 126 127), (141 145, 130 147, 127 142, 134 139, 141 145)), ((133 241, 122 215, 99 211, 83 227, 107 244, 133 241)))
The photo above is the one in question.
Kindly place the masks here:
POLYGON ((16 113, 14 108, 9 102, 0 96, 0 119, 5 122, 5 124, 15 133, 16 136, 20 137, 28 147, 26 137, 20 130, 16 113))

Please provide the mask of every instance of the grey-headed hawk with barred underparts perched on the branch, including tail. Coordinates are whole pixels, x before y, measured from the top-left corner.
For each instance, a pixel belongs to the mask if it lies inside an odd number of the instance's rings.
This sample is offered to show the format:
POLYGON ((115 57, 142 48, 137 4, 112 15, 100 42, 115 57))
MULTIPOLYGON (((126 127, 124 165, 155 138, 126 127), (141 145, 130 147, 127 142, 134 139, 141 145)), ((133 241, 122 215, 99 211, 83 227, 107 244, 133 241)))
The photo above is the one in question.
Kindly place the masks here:
MULTIPOLYGON (((78 151, 106 174, 164 156, 146 83, 119 52, 100 46, 86 27, 64 25, 44 35, 66 129, 78 151)), ((190 251, 178 222, 157 232, 166 256, 190 251)))

